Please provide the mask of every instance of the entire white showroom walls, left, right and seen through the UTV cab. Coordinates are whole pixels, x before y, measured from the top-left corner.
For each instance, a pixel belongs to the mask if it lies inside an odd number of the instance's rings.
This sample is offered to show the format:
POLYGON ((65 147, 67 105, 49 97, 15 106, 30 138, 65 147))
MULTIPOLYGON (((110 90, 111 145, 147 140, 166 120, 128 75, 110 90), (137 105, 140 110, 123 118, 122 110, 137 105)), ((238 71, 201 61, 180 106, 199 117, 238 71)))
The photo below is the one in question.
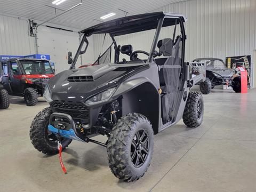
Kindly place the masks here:
MULTIPOLYGON (((256 49, 256 0, 190 0, 153 11, 179 12, 187 16, 186 61, 198 57, 225 59, 228 56, 246 54, 253 57, 253 50, 256 49)), ((49 25, 53 26, 52 23, 49 25)), ((139 48, 148 51, 153 33, 145 31, 141 34, 143 35, 117 37, 117 43, 132 44, 134 50, 139 48)), ((102 35, 89 38, 89 49, 82 56, 83 64, 92 63, 98 58, 102 39, 102 35)), ((109 45, 108 42, 109 39, 105 46, 109 45)), ((60 72, 68 67, 67 52, 73 51, 73 55, 75 54, 78 34, 42 26, 38 28, 38 46, 39 53, 51 54, 57 72, 60 72)), ((27 21, 0 15, 0 54, 33 53, 34 38, 28 36, 27 21)), ((78 60, 77 65, 80 63, 78 60)))

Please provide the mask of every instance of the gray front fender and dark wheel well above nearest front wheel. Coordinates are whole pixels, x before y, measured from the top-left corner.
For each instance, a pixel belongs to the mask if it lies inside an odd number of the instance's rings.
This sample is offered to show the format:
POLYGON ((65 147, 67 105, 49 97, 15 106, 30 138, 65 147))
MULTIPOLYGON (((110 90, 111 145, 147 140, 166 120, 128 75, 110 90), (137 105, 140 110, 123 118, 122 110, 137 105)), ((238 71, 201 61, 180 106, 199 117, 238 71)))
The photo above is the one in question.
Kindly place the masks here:
POLYGON ((113 98, 122 95, 122 116, 129 113, 140 113, 146 116, 153 126, 154 134, 158 133, 161 119, 161 98, 157 87, 147 77, 139 77, 123 82, 113 98))

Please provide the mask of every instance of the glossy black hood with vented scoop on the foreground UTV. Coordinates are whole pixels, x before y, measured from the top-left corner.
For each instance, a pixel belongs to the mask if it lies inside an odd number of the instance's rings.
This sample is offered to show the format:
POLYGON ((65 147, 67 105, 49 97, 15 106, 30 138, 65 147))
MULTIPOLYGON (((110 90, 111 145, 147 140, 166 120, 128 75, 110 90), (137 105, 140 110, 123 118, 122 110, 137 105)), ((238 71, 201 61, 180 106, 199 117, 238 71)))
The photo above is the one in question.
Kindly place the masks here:
MULTIPOLYGON (((52 100, 84 101, 104 88, 117 85, 118 79, 149 65, 101 64, 81 69, 65 70, 48 82, 52 100)), ((140 70, 139 70, 140 71, 140 70)))

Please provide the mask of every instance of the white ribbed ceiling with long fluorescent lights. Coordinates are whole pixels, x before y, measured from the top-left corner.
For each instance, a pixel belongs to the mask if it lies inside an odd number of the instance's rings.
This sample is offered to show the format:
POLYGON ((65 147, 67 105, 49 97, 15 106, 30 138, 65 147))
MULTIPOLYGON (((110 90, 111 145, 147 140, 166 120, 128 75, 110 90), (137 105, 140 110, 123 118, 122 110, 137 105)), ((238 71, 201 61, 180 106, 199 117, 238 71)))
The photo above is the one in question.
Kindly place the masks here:
MULTIPOLYGON (((0 14, 46 21, 81 2, 81 0, 66 0, 60 5, 53 5, 52 1, 0 0, 0 14), (58 8, 56 14, 55 9, 49 6, 58 8)), ((75 7, 73 10, 62 14, 50 22, 82 30, 100 23, 100 17, 111 12, 116 13, 116 15, 102 21, 124 17, 125 12, 118 9, 129 12, 127 15, 133 15, 150 12, 164 5, 182 1, 186 0, 83 0, 82 5, 75 7)))

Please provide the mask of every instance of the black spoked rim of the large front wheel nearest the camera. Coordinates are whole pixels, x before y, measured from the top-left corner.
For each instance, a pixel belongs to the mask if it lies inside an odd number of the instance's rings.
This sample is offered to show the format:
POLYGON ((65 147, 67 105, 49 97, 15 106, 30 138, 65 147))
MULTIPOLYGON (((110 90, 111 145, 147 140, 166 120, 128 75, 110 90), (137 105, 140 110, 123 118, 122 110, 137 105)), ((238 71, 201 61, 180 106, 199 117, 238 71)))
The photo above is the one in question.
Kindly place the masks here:
POLYGON ((141 167, 148 157, 149 137, 146 130, 135 133, 131 144, 131 161, 134 167, 141 167))

